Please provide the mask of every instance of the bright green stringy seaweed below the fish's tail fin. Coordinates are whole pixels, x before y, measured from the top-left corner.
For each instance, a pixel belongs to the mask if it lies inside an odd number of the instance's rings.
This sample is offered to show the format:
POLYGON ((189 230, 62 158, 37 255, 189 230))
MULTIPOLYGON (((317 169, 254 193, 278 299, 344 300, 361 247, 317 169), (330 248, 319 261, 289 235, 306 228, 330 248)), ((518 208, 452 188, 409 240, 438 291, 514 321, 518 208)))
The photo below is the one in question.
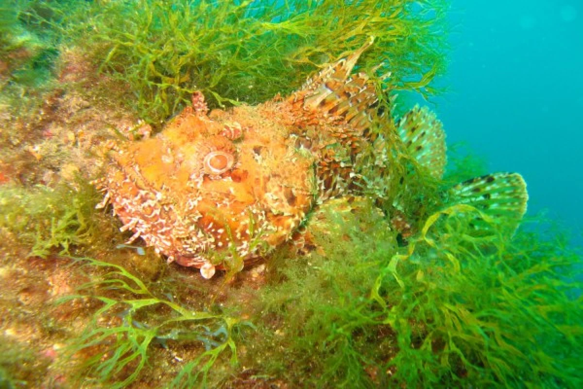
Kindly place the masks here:
POLYGON ((460 223, 469 218, 466 208, 427 220, 377 279, 372 296, 399 334, 401 350, 388 364, 394 379, 415 386, 580 386, 573 363, 582 352, 581 298, 570 297, 581 288, 580 258, 536 233, 475 239, 460 223))

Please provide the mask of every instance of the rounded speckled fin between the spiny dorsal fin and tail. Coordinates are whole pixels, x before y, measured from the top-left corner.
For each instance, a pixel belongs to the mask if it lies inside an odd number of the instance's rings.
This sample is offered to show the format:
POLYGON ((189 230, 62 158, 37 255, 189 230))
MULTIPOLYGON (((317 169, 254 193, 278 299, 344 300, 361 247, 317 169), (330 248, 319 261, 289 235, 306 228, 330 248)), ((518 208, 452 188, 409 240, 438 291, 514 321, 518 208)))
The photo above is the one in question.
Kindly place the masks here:
POLYGON ((445 170, 445 133, 441 121, 427 107, 415 106, 406 113, 397 131, 417 162, 429 169, 431 176, 441 178, 445 170))

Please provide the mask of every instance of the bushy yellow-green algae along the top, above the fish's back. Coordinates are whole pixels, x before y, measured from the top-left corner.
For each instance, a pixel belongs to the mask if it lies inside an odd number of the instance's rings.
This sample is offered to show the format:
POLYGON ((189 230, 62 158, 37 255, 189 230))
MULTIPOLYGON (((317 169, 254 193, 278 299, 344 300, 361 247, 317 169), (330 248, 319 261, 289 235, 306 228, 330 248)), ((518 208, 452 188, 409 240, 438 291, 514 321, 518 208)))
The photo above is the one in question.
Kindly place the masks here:
POLYGON ((140 117, 158 123, 195 90, 214 107, 285 95, 363 36, 377 37, 365 68, 382 62, 379 71, 393 72, 402 89, 433 94, 445 64, 444 8, 401 0, 97 1, 61 28, 129 85, 140 117))

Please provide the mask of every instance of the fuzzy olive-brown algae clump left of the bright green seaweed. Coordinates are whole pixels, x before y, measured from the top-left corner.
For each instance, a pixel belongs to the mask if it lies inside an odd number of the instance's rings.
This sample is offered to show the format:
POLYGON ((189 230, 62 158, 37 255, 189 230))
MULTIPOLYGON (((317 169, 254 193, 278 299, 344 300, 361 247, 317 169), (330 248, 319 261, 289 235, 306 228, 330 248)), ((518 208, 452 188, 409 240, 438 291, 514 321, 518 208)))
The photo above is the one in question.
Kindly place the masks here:
POLYGON ((300 386, 374 386, 368 368, 385 346, 378 345, 382 312, 367 296, 382 255, 397 246, 382 214, 370 204, 357 209, 342 215, 324 205, 325 222, 307 225, 319 254, 272 265, 272 283, 258 295, 261 319, 254 320, 265 342, 250 356, 264 373, 300 386))

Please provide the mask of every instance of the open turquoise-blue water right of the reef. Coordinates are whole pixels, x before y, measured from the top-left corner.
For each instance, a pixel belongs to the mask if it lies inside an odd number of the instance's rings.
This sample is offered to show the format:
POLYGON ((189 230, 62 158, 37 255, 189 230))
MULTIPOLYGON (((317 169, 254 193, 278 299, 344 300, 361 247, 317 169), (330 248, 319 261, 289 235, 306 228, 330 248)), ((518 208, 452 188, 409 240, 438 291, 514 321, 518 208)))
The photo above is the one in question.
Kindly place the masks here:
POLYGON ((581 243, 583 0, 452 0, 450 18, 448 92, 433 100, 448 144, 521 173, 529 211, 581 243))

